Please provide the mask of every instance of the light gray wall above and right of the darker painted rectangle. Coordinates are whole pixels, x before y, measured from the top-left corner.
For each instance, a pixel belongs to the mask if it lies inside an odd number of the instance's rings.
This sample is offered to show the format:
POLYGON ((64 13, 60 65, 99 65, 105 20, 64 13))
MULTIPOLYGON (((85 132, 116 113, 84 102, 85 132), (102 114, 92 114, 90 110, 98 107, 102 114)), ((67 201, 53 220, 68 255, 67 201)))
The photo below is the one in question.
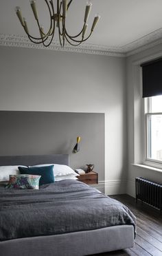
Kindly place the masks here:
POLYGON ((0 56, 0 110, 105 114, 106 193, 125 193, 126 60, 16 47, 0 56))

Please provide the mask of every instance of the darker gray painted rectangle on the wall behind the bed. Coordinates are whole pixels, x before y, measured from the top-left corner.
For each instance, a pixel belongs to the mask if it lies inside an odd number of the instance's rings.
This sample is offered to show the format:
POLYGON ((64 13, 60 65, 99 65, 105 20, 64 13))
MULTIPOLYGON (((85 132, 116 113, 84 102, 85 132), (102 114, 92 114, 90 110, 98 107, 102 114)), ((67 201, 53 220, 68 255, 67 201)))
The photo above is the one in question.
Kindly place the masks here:
POLYGON ((104 180, 104 114, 0 111, 0 120, 0 156, 68 153, 73 169, 93 163, 104 180))

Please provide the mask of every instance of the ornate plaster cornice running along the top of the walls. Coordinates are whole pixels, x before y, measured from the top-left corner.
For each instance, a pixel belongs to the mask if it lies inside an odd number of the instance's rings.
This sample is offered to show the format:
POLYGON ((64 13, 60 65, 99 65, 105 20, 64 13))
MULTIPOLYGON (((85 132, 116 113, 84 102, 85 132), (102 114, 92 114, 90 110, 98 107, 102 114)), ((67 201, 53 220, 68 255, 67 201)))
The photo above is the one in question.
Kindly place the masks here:
POLYGON ((126 57, 132 54, 137 54, 143 50, 147 50, 150 47, 154 47, 162 43, 162 28, 156 30, 146 36, 141 37, 140 39, 128 43, 124 46, 104 46, 104 45, 95 45, 89 43, 83 43, 79 47, 73 47, 66 44, 64 48, 60 47, 58 41, 53 41, 49 47, 43 47, 43 45, 36 45, 27 38, 27 36, 20 36, 15 34, 0 34, 0 45, 3 46, 12 46, 12 47, 25 47, 32 49, 47 49, 55 51, 64 51, 64 52, 78 52, 85 54, 98 54, 105 56, 119 56, 126 57))

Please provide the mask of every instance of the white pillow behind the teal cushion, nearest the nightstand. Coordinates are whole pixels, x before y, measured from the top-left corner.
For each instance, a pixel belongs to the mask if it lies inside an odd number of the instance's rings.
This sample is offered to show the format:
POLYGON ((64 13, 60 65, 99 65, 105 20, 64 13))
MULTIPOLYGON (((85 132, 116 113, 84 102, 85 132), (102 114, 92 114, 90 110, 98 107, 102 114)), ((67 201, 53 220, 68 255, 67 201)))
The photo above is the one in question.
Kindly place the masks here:
MULTIPOLYGON (((34 165, 33 167, 45 167, 53 164, 38 164, 34 165)), ((65 164, 54 164, 54 176, 62 176, 62 175, 74 175, 74 176, 79 176, 76 171, 73 171, 71 167, 65 164)))

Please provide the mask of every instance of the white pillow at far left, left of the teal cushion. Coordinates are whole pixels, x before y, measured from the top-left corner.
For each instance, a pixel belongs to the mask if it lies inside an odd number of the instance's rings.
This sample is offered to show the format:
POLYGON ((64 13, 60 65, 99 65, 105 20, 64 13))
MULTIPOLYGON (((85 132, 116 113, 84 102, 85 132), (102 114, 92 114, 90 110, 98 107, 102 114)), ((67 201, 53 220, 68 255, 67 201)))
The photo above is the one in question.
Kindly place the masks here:
POLYGON ((10 166, 1 166, 0 167, 0 181, 9 180, 9 175, 20 174, 18 169, 20 165, 10 165, 10 166))

